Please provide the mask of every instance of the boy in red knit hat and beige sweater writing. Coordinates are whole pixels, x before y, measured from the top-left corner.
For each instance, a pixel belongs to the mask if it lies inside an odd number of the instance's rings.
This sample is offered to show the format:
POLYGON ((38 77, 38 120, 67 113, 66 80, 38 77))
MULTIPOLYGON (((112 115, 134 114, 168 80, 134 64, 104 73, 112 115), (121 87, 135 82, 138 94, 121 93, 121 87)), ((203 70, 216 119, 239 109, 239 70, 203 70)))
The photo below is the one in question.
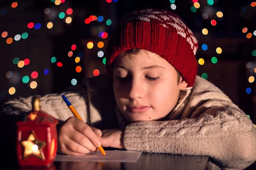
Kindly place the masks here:
MULTIPOLYGON (((107 47, 107 73, 41 97, 61 121, 58 153, 83 155, 97 146, 154 153, 207 155, 224 169, 256 160, 253 123, 217 87, 197 75, 198 42, 176 14, 147 8, 122 18, 107 47)), ((31 111, 32 97, 6 102, 3 113, 31 111)))

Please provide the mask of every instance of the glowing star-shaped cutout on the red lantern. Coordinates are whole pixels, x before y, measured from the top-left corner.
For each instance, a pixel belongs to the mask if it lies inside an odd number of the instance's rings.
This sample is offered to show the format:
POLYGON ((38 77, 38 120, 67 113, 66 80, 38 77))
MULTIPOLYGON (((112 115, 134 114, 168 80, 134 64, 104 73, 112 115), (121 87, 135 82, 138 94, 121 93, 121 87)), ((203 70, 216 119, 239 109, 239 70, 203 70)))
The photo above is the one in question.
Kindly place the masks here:
POLYGON ((43 160, 45 159, 42 148, 45 146, 46 142, 36 139, 33 131, 30 133, 29 137, 21 141, 20 144, 24 147, 23 159, 31 155, 37 156, 43 160))

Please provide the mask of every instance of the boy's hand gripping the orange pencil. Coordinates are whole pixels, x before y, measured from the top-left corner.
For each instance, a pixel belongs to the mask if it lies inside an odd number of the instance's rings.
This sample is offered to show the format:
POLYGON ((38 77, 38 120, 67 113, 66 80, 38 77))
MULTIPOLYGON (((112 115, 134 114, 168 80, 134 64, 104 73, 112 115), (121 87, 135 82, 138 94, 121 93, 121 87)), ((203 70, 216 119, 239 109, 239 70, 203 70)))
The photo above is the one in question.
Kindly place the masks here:
POLYGON ((58 153, 84 155, 98 151, 102 144, 101 130, 90 127, 76 117, 68 118, 58 130, 58 153))

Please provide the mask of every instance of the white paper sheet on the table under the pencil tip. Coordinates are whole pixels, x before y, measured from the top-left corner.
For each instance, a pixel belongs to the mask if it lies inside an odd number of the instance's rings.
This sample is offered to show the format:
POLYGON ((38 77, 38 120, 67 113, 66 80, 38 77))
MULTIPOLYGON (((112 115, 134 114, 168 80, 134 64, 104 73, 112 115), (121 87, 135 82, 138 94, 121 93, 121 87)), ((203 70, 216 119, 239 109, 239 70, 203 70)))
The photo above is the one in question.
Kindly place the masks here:
POLYGON ((118 162, 136 162, 142 152, 131 150, 105 150, 106 155, 102 153, 90 152, 83 156, 56 155, 55 161, 118 161, 118 162))

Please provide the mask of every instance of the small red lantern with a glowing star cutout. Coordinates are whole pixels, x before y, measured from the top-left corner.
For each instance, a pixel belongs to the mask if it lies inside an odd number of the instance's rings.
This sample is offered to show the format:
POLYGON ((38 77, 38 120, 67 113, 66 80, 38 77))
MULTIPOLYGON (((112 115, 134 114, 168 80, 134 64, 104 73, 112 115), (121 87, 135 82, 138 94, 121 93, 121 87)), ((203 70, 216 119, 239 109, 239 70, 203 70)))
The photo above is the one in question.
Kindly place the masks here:
POLYGON ((57 152, 58 120, 40 110, 38 97, 33 100, 33 111, 17 122, 17 157, 20 165, 44 166, 51 164, 57 152))

